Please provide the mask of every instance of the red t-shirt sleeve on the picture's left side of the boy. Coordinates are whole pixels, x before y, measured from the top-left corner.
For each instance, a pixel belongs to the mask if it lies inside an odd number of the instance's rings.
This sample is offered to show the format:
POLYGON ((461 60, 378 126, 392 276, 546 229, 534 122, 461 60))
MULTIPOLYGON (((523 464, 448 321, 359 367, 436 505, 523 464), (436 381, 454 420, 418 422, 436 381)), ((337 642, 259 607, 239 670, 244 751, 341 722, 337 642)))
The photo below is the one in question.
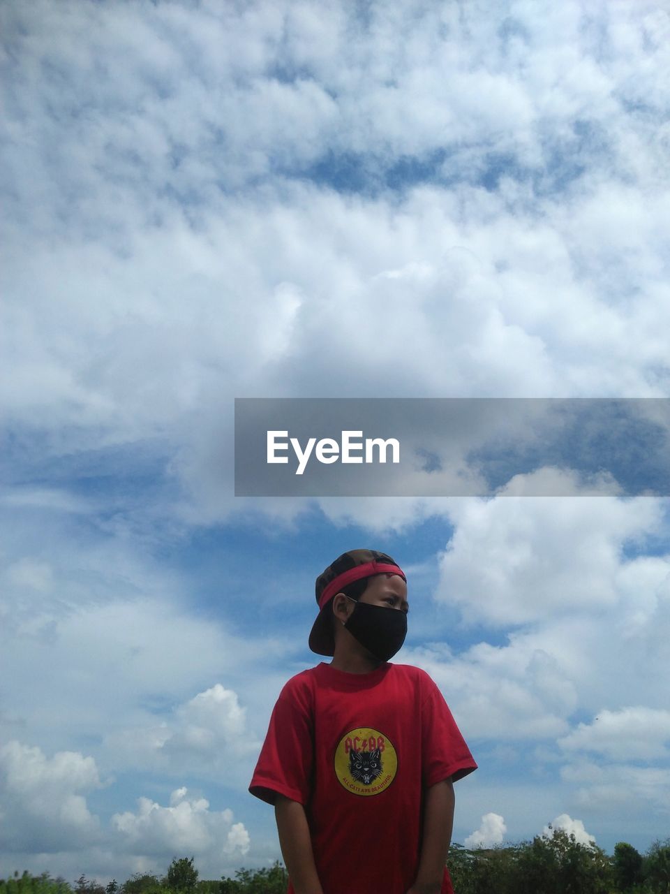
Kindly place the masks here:
POLYGON ((281 690, 249 791, 268 804, 277 794, 306 805, 314 764, 314 721, 306 692, 281 690))

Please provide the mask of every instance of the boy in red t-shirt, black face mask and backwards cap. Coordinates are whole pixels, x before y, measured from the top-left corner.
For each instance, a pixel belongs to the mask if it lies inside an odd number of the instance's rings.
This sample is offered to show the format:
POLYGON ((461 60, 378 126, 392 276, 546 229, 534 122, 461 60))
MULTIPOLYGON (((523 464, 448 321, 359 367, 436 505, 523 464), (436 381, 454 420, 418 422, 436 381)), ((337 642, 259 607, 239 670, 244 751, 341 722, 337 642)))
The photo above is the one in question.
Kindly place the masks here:
POLYGON ((289 894, 448 894, 453 783, 476 769, 431 678, 389 664, 406 578, 352 550, 316 578, 309 637, 330 664, 281 690, 249 791, 273 804, 289 894))

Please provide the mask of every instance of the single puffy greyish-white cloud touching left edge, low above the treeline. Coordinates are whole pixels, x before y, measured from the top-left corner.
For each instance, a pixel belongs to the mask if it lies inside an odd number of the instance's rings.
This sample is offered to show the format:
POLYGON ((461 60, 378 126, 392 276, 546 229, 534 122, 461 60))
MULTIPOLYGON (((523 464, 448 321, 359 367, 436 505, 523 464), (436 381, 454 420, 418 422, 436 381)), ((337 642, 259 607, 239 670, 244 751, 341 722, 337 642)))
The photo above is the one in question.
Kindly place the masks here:
POLYGON ((15 740, 0 747, 0 840, 8 850, 45 853, 96 841, 86 794, 101 785, 96 762, 79 752, 47 757, 15 740))

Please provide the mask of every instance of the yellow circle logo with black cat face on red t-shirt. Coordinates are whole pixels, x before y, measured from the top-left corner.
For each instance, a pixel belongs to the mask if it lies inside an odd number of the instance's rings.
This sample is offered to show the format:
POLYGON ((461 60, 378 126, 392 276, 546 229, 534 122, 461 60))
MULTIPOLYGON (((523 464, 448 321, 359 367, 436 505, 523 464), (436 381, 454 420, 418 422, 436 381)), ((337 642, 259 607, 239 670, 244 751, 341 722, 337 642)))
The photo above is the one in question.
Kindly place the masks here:
POLYGON ((379 730, 350 730, 335 750, 335 772, 354 795, 379 795, 388 789, 398 771, 396 749, 379 730))

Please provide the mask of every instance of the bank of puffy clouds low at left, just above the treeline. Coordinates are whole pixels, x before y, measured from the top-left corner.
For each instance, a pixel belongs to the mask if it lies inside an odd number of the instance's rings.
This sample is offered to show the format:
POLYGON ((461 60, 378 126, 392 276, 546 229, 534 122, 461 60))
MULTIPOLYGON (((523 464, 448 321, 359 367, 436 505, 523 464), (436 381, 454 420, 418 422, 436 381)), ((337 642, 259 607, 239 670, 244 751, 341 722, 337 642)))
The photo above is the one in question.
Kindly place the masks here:
MULTIPOLYGON (((114 814, 109 826, 91 814, 86 795, 100 789, 96 762, 78 752, 47 757, 18 741, 0 747, 0 843, 5 853, 49 855, 49 869, 71 866, 71 855, 96 861, 105 873, 147 870, 175 853, 192 853, 214 873, 247 854, 250 838, 230 809, 210 810, 186 787, 163 807, 138 798, 138 810, 114 814), (139 860, 139 862, 137 862, 139 860), (135 862, 133 862, 135 861, 135 862)), ((164 870, 164 866, 161 865, 164 870)))

